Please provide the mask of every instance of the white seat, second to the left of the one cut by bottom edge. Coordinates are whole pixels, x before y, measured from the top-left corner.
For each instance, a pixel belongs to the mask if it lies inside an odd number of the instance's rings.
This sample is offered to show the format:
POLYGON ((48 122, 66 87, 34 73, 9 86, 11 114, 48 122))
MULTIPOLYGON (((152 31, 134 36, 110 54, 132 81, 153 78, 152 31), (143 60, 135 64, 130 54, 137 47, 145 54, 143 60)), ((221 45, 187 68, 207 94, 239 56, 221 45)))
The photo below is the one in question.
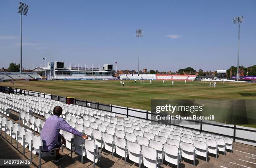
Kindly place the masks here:
POLYGON ((125 139, 115 137, 115 153, 125 158, 125 163, 126 163, 126 157, 128 155, 128 151, 127 151, 127 143, 125 139))

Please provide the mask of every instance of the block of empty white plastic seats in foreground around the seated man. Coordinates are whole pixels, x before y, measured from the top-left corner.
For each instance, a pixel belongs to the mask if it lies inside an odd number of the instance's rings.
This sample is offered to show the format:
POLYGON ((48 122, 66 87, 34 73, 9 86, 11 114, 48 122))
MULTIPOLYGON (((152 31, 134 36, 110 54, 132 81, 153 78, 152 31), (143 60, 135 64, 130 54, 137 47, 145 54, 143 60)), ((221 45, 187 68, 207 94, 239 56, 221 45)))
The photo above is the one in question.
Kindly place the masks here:
MULTIPOLYGON (((35 116, 42 116, 47 120, 47 117, 53 114, 52 110, 56 105, 63 108, 61 117, 89 137, 88 140, 83 140, 69 132, 61 131, 67 140, 67 148, 71 150, 71 157, 72 151, 77 151, 81 155, 81 161, 83 157, 87 157, 94 165, 100 162, 102 149, 111 152, 112 157, 116 153, 125 158, 125 161, 129 158, 148 167, 159 167, 163 160, 179 166, 182 158, 192 160, 195 164, 197 155, 207 160, 208 153, 217 156, 220 152, 225 155, 226 150, 233 150, 233 141, 227 137, 200 133, 174 125, 156 125, 134 117, 120 118, 99 109, 65 104, 42 97, 5 93, 0 93, 1 135, 5 134, 5 139, 6 135, 11 135, 11 138, 18 140, 17 148, 18 145, 22 145, 23 151, 24 148, 28 148, 31 152, 31 161, 32 153, 39 153, 40 160, 45 155, 54 156, 54 150, 42 153, 41 138, 31 132, 40 133, 44 127, 44 120, 35 116), (24 127, 8 120, 10 110, 20 115, 20 122, 25 125, 24 127)), ((41 161, 39 163, 41 164, 41 161)))

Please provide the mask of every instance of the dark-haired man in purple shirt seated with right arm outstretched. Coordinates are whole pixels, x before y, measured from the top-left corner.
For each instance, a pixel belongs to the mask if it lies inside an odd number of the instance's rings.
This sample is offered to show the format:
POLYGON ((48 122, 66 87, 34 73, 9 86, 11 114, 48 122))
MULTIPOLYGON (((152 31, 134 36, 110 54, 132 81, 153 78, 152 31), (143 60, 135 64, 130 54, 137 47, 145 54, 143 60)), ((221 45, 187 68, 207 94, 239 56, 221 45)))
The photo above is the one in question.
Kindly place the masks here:
MULTIPOLYGON (((43 141, 43 151, 47 152, 54 148, 60 148, 62 144, 66 144, 65 138, 59 133, 60 130, 88 139, 86 135, 82 135, 81 132, 72 128, 64 118, 59 117, 62 113, 60 106, 54 107, 53 113, 53 116, 47 118, 40 135, 43 141)), ((59 162, 61 159, 63 159, 63 156, 59 154, 59 149, 57 149, 54 162, 59 162)))

